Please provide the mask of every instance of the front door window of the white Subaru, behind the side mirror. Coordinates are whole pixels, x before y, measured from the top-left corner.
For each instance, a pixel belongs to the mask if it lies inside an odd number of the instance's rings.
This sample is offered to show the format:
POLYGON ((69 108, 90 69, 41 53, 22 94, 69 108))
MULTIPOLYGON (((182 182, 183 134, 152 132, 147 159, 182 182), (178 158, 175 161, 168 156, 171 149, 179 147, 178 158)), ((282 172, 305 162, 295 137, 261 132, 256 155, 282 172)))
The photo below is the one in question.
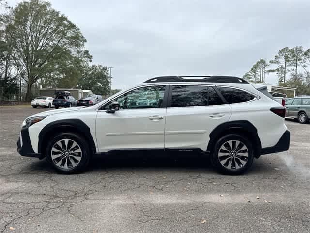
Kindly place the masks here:
POLYGON ((113 101, 120 104, 120 109, 160 108, 163 106, 165 91, 166 86, 140 87, 110 101, 104 109, 109 109, 113 101))

